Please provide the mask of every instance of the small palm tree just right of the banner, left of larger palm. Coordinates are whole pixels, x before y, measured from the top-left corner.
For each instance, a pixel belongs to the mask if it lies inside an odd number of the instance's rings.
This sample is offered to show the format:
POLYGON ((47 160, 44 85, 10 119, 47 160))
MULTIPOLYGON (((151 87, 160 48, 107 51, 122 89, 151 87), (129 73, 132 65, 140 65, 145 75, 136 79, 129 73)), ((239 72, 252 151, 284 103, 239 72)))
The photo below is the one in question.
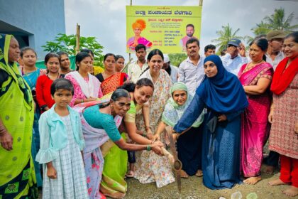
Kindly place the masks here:
POLYGON ((240 31, 239 28, 237 28, 237 30, 233 32, 229 23, 227 26, 221 26, 221 27, 222 27, 221 31, 216 31, 216 34, 219 36, 219 38, 211 40, 212 42, 217 43, 216 47, 219 47, 218 52, 221 52, 221 50, 227 48, 228 41, 231 41, 232 38, 243 39, 241 36, 236 36, 238 31, 240 31))

